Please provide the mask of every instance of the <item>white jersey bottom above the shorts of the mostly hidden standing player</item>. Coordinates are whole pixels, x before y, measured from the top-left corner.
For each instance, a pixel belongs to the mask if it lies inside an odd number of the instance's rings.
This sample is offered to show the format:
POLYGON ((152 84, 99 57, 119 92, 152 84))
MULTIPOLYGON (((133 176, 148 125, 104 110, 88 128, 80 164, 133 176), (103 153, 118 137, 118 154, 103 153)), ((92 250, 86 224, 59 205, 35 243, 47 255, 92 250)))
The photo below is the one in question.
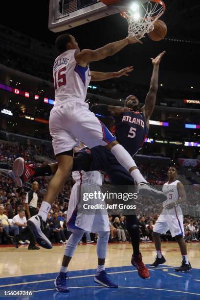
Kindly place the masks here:
POLYGON ((72 178, 76 181, 76 184, 87 183, 102 186, 102 175, 99 171, 74 171, 72 172, 72 178))

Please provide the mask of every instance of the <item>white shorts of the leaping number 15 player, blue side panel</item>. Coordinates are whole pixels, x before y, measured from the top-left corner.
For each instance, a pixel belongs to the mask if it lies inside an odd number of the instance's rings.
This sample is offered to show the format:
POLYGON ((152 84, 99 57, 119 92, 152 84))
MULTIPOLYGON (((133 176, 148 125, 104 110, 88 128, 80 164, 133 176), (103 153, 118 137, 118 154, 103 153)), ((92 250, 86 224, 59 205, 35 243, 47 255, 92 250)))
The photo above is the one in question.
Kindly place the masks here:
POLYGON ((88 103, 78 100, 55 104, 50 112, 49 131, 54 154, 72 150, 77 140, 93 148, 115 140, 108 128, 89 111, 88 103))

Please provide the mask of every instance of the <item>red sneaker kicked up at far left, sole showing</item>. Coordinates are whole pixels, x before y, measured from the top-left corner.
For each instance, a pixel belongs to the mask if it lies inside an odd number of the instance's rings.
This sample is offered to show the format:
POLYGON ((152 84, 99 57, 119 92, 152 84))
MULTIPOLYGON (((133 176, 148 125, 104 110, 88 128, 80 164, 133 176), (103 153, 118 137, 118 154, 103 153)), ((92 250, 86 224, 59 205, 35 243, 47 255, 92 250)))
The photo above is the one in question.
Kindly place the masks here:
POLYGON ((34 165, 26 164, 22 157, 17 158, 13 163, 14 180, 19 187, 35 174, 34 165))

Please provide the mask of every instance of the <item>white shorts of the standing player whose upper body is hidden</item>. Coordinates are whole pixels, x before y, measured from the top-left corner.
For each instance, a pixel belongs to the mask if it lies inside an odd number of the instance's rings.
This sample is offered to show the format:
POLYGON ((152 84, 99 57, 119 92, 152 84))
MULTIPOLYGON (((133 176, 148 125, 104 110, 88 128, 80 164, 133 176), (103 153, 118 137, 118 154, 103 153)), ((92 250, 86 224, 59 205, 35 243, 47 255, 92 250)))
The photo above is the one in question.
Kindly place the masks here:
POLYGON ((84 193, 100 191, 99 186, 75 183, 71 190, 67 209, 67 229, 69 231, 84 230, 88 232, 110 231, 109 217, 106 204, 101 198, 84 201, 84 193), (87 204, 84 209, 83 205, 87 204), (102 208, 88 208, 89 205, 103 205, 102 208))

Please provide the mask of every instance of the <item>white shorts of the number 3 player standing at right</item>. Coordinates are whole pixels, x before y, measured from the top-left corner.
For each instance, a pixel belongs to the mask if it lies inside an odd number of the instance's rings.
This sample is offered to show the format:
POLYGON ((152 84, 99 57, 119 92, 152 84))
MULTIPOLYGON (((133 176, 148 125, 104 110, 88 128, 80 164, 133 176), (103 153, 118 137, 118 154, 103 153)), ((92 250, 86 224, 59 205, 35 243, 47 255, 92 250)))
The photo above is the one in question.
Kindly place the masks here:
POLYGON ((165 234, 170 230, 172 237, 184 236, 183 215, 180 207, 163 209, 154 226, 154 232, 165 234))

